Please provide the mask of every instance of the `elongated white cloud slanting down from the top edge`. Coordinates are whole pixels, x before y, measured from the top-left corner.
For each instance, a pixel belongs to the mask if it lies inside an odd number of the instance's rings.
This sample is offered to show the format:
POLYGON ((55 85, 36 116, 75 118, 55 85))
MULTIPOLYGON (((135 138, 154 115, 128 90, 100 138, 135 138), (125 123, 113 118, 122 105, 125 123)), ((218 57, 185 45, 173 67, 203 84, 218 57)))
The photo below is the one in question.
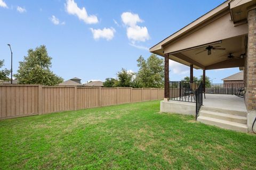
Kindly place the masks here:
POLYGON ((66 1, 66 11, 71 15, 76 15, 80 20, 87 24, 98 23, 98 18, 95 15, 88 15, 85 7, 79 8, 74 0, 66 1))

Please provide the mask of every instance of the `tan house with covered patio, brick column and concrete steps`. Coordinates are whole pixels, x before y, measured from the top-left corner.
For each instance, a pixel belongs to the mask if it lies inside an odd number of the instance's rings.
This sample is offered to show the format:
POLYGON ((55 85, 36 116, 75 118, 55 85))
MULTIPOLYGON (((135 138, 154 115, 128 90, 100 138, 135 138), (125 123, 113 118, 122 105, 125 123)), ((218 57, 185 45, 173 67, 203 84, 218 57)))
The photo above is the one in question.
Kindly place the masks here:
MULTIPOLYGON (((202 123, 241 132, 253 131, 256 119, 255 16, 255 0, 228 0, 149 49, 164 57, 161 112, 193 114, 202 123), (169 60, 190 67, 189 82, 169 81, 169 60), (207 94, 206 71, 231 67, 243 70, 245 97, 228 95, 229 90, 223 84, 214 87, 222 95, 214 94, 214 89, 212 94, 207 94), (202 70, 203 82, 193 81, 193 69, 202 70), (203 92, 206 92, 205 98, 203 92)), ((172 22, 167 15, 163 17, 166 22, 172 22)), ((237 89, 241 88, 232 89, 231 94, 237 89)))

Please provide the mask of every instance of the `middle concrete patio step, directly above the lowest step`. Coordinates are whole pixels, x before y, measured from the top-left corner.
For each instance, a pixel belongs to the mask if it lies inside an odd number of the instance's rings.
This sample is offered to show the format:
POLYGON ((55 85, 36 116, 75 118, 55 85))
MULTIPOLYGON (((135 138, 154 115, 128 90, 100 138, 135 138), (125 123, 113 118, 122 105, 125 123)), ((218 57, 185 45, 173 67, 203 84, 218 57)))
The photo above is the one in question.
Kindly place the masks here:
POLYGON ((231 114, 219 113, 219 112, 212 112, 212 111, 205 111, 205 110, 201 110, 199 115, 203 116, 203 117, 217 118, 217 119, 220 119, 220 120, 223 120, 223 121, 230 121, 230 122, 247 124, 247 117, 244 117, 244 116, 237 116, 237 115, 231 115, 231 114))

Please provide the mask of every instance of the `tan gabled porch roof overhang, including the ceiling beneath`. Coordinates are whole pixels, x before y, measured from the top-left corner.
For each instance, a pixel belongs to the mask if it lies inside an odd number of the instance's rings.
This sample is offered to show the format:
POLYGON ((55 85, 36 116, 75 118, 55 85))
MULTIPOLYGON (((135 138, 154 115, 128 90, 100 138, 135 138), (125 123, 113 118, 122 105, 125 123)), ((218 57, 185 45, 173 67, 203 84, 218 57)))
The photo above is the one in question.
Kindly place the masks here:
POLYGON ((187 66, 193 64, 195 69, 243 67, 248 34, 247 22, 244 21, 247 11, 240 13, 240 18, 234 14, 238 8, 248 8, 255 3, 255 0, 226 1, 151 47, 150 52, 169 56, 170 60, 187 66), (211 55, 207 55, 207 51, 199 53, 209 45, 225 50, 212 50, 211 55), (234 58, 228 58, 229 54, 234 58))

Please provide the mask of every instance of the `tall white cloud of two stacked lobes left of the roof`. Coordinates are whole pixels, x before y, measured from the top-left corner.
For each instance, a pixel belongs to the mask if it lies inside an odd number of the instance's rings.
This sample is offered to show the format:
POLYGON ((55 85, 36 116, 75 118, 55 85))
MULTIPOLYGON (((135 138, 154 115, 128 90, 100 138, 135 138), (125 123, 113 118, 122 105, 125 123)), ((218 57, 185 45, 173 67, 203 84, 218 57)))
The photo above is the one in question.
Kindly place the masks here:
POLYGON ((124 12, 122 13, 121 18, 123 23, 127 27, 126 35, 133 44, 135 43, 135 41, 145 42, 150 38, 147 27, 140 27, 139 25, 137 25, 137 23, 143 22, 138 14, 124 12))

